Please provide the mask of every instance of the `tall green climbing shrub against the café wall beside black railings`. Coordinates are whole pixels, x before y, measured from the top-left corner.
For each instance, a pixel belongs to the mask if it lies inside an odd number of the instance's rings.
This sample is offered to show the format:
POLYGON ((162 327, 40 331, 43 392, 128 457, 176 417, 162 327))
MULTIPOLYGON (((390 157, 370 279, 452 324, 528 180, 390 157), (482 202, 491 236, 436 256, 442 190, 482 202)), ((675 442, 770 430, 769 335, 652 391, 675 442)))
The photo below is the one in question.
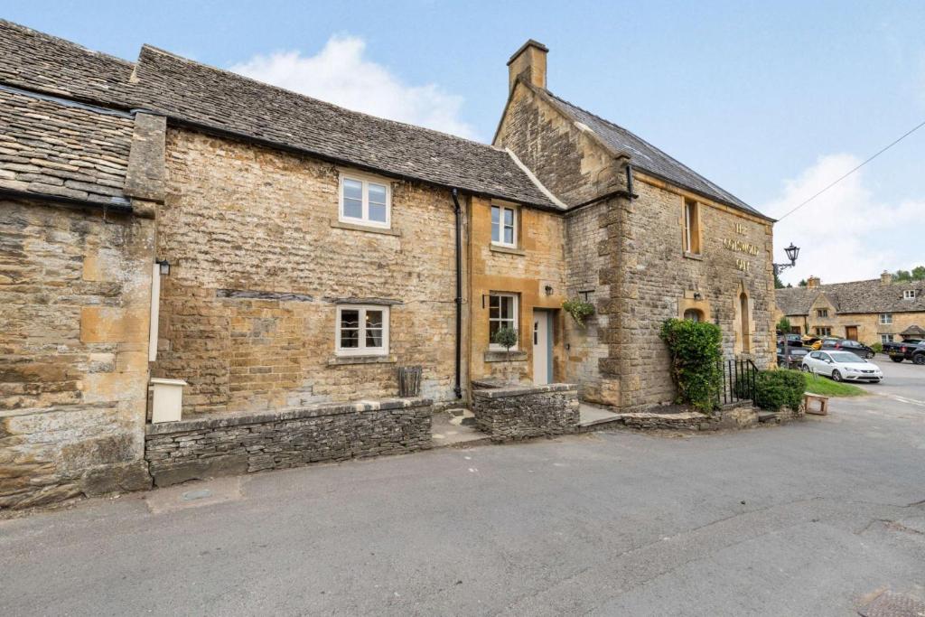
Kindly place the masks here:
POLYGON ((710 413, 718 406, 722 388, 720 327, 703 321, 668 319, 660 337, 672 354, 672 380, 677 402, 710 413))

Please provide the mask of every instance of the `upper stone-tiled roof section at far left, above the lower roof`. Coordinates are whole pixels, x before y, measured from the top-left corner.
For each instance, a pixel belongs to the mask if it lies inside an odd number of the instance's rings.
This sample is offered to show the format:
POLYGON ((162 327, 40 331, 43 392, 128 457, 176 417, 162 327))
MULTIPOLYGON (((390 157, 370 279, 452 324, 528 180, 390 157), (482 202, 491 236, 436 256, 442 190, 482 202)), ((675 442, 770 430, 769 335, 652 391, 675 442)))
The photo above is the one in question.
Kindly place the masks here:
POLYGON ((0 19, 0 81, 93 103, 129 105, 132 63, 0 19))

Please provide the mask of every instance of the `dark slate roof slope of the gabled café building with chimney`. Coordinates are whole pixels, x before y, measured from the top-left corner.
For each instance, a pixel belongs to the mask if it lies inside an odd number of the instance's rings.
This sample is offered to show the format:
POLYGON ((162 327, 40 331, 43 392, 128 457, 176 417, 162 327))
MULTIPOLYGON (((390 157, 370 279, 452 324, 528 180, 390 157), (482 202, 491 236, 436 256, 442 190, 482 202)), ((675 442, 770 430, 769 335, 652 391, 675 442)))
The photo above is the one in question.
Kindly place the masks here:
POLYGON ((577 105, 561 99, 553 93, 544 91, 558 103, 561 109, 576 122, 581 122, 588 129, 593 130, 598 137, 616 152, 630 155, 633 167, 648 172, 660 179, 665 179, 683 187, 709 197, 710 199, 730 205, 749 214, 768 218, 758 210, 743 202, 729 191, 704 178, 690 167, 685 166, 672 156, 665 154, 651 143, 643 140, 635 133, 623 127, 592 114, 577 105))

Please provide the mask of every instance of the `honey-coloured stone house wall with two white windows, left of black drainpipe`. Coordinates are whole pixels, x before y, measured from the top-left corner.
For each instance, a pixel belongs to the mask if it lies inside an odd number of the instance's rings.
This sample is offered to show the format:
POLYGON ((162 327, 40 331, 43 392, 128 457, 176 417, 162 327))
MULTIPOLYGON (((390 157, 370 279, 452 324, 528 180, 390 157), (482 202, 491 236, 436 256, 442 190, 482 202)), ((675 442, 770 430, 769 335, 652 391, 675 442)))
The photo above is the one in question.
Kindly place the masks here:
POLYGON ((184 413, 396 396, 403 364, 423 367, 423 396, 454 400, 449 191, 387 179, 391 229, 363 230, 338 223, 331 164, 185 130, 166 152, 153 375, 189 382, 184 413), (355 298, 388 304, 388 356, 335 355, 336 305, 355 298))

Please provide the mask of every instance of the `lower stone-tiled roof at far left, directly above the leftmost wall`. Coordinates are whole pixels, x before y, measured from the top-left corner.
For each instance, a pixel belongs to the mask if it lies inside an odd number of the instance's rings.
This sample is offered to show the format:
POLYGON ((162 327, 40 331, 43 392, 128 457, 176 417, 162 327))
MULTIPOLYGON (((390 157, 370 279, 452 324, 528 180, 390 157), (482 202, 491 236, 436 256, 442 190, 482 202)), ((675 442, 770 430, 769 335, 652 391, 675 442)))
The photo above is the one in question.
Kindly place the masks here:
POLYGON ((0 189, 106 204, 122 192, 134 120, 0 88, 0 189))

